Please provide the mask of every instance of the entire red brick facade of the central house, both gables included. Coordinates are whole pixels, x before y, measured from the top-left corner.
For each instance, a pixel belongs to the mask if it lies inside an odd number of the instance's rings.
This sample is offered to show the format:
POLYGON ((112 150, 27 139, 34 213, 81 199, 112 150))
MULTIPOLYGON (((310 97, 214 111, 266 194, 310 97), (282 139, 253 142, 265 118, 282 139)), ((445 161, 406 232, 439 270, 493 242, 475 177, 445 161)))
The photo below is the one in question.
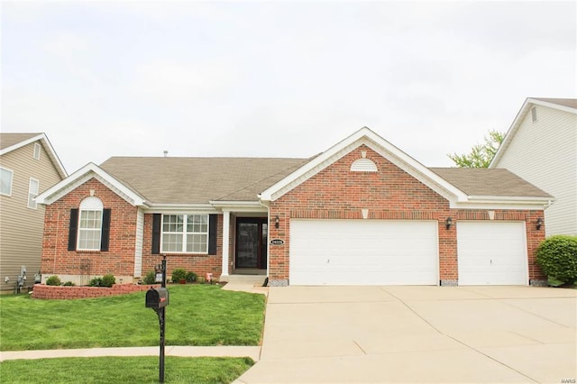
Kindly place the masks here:
MULTIPOLYGON (((271 281, 289 281, 290 220, 362 219, 362 209, 368 209, 367 220, 435 220, 438 222, 439 279, 456 282, 456 225, 445 228, 448 217, 456 224, 460 220, 490 220, 486 209, 453 209, 449 201, 430 187, 413 178, 403 169, 381 157, 367 146, 346 154, 322 169, 298 187, 270 202, 270 239, 282 239, 283 245, 269 248, 271 281), (353 161, 372 160, 378 172, 352 172, 353 161), (279 217, 279 228, 275 220, 279 217)), ((530 280, 544 279, 536 266, 535 250, 545 239, 545 229, 536 229, 536 219, 543 210, 493 210, 494 220, 525 221, 527 229, 528 275, 530 280)), ((144 215, 142 236, 142 276, 154 269, 162 254, 152 254, 152 214, 144 215)), ((41 273, 43 276, 87 276, 113 274, 132 283, 137 256, 138 207, 132 206, 96 178, 74 188, 64 197, 46 207, 41 273), (98 197, 105 208, 111 209, 108 251, 68 251, 70 209, 90 196, 98 197)), ((167 253, 168 274, 175 268, 196 272, 199 276, 212 273, 217 279, 222 273, 223 215, 217 216, 215 254, 167 253)), ((229 271, 234 265, 234 221, 229 238, 229 271)), ((137 273, 138 275, 138 273, 137 273)), ((85 281, 87 283, 87 281, 85 281)))

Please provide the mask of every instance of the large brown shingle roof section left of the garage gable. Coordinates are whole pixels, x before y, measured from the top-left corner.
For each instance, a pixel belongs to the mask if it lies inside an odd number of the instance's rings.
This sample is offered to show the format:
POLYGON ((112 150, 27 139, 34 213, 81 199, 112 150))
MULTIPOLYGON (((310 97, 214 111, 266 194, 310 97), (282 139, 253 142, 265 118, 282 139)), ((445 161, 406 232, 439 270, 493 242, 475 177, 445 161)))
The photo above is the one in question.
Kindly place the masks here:
POLYGON ((113 157, 101 168, 151 203, 256 201, 307 159, 113 157))

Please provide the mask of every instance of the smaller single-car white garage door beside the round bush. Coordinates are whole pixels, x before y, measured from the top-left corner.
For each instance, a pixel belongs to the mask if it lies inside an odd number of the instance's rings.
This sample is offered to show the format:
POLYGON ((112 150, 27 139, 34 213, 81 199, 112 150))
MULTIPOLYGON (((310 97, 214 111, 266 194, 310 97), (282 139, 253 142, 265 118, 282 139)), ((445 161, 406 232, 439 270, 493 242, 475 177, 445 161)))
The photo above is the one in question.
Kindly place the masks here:
POLYGON ((457 223, 459 285, 527 285, 524 222, 457 223))

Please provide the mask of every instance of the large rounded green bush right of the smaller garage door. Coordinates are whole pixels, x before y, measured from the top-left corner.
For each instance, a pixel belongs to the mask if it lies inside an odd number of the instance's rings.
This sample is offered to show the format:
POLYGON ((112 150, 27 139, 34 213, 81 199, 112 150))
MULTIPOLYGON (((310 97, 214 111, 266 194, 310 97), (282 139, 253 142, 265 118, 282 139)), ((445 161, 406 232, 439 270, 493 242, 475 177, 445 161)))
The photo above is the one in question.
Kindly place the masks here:
POLYGON ((577 282, 577 236, 555 235, 539 244, 537 264, 556 284, 577 282))

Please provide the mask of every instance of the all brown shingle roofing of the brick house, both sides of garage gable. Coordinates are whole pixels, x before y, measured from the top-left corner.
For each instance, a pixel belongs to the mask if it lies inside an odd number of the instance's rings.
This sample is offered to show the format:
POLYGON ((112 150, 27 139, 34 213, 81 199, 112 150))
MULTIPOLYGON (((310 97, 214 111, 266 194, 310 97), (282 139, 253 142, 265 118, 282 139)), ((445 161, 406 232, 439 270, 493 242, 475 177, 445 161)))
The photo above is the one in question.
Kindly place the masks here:
MULTIPOLYGON (((113 157, 100 167, 152 204, 256 201, 310 159, 113 157)), ((469 196, 551 197, 507 169, 431 168, 469 196)))

